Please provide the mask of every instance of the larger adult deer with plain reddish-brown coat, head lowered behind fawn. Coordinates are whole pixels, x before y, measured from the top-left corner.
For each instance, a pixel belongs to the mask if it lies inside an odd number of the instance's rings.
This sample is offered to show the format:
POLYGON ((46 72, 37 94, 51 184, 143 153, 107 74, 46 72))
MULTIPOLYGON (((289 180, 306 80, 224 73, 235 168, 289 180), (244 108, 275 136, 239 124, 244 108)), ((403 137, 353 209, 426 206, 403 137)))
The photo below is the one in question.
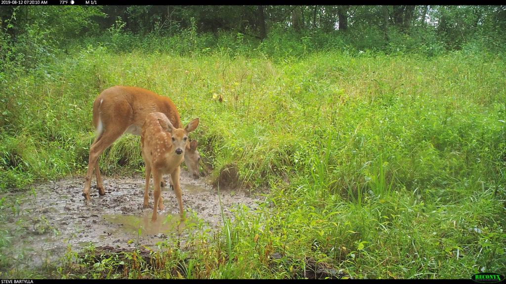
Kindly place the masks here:
MULTIPOLYGON (((97 177, 97 189, 105 195, 104 185, 99 169, 99 157, 105 149, 123 133, 141 135, 146 115, 161 112, 176 128, 181 128, 181 119, 176 105, 167 97, 139 87, 114 86, 103 90, 93 103, 93 125, 96 129, 95 141, 90 147, 88 171, 82 195, 90 200, 90 186, 93 169, 97 177)), ((199 178, 200 155, 197 141, 187 140, 184 155, 185 164, 194 178, 199 178)), ((172 181, 171 181, 172 183, 172 181)))

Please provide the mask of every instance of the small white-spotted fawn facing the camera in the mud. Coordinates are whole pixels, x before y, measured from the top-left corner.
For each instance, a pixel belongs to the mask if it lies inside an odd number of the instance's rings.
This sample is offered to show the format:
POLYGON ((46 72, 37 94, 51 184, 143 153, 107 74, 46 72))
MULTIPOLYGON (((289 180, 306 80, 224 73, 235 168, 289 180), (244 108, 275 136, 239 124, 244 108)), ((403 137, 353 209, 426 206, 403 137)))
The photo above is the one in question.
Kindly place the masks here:
POLYGON ((142 159, 146 163, 146 187, 144 189, 144 208, 149 203, 149 178, 153 173, 153 216, 151 221, 156 221, 157 206, 163 210, 161 197, 160 179, 164 173, 171 175, 174 192, 178 198, 179 213, 184 219, 183 200, 181 198, 181 186, 179 185, 179 166, 188 141, 188 134, 198 126, 198 118, 190 121, 184 129, 176 128, 171 121, 161 112, 150 113, 146 116, 141 134, 142 159))

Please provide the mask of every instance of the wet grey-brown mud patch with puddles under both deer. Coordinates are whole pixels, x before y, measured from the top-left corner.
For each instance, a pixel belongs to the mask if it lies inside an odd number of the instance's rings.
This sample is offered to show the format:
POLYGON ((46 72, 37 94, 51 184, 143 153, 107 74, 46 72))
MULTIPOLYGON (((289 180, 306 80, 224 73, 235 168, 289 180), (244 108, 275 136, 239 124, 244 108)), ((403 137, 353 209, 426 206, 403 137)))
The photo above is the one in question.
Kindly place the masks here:
MULTIPOLYGON (((90 191, 91 201, 81 196, 83 177, 68 177, 32 185, 21 195, 6 197, 0 224, 11 238, 10 257, 21 267, 39 266, 54 261, 68 249, 79 251, 93 244, 96 247, 112 246, 133 249, 147 246, 155 249, 156 243, 174 238, 187 226, 179 218, 179 206, 172 188, 162 187, 164 210, 158 211, 157 221, 151 222, 153 213, 152 181, 149 208, 143 208, 144 177, 104 177, 105 196, 99 196, 95 179, 90 191), (15 205, 12 203, 18 200, 15 205)), ((168 185, 168 177, 165 177, 168 185)), ((187 216, 196 214, 204 226, 218 229, 222 223, 218 191, 209 178, 194 180, 181 171, 183 206, 187 216)), ((237 205, 256 208, 263 198, 238 190, 220 190, 225 214, 237 205)), ((184 235, 183 235, 184 237, 184 235)))

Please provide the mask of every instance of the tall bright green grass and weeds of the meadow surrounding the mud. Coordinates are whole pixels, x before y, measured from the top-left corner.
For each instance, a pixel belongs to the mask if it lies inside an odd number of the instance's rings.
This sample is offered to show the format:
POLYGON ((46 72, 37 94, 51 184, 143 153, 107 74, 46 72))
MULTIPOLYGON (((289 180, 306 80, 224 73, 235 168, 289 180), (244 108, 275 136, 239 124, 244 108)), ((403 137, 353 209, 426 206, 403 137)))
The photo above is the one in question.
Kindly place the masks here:
MULTIPOLYGON (((189 251, 167 245, 163 265, 123 260, 126 271, 115 259, 53 276, 291 278, 310 261, 349 278, 505 274, 505 74, 503 60, 460 52, 275 63, 89 48, 2 83, 0 188, 83 174, 93 100, 141 86, 170 97, 183 123, 200 118, 192 138, 215 178, 234 168, 242 188, 270 188, 266 202, 238 208, 189 251)), ((102 156, 104 173, 142 171, 139 149, 122 137, 102 156)))

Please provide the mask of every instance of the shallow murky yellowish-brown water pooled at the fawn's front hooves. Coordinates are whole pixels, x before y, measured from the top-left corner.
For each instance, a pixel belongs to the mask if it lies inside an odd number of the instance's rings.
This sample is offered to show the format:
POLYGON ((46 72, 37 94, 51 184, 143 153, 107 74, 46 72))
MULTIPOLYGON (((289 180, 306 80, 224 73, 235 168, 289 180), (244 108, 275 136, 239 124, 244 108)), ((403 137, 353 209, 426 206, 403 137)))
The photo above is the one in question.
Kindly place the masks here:
POLYGON ((182 222, 179 214, 158 214, 156 221, 151 221, 153 212, 146 212, 142 216, 136 215, 125 215, 125 214, 110 214, 103 215, 104 219, 114 224, 121 224, 120 230, 133 235, 139 234, 139 228, 141 229, 141 235, 146 234, 158 234, 158 233, 170 233, 175 231, 182 231, 186 226, 185 222, 182 222))

